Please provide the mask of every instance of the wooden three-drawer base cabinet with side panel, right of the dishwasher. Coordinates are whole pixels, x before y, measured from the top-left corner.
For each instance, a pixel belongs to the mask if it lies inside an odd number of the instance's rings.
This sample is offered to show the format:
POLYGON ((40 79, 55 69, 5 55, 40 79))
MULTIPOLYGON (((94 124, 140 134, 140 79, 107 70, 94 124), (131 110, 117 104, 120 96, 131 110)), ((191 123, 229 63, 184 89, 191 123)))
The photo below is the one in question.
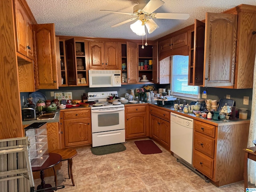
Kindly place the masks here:
POLYGON ((194 120, 193 166, 217 186, 243 180, 249 121, 211 124, 194 120), (235 169, 234 169, 235 168, 235 169))

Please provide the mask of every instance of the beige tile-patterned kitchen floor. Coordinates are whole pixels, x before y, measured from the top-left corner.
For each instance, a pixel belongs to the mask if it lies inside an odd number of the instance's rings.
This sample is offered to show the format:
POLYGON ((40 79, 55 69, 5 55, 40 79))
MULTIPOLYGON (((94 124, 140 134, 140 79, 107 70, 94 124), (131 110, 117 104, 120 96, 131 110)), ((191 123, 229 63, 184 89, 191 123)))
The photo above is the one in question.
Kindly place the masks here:
MULTIPOLYGON (((60 192, 243 192, 244 182, 216 187, 176 162, 161 146, 160 154, 141 154, 134 141, 123 152, 96 156, 90 147, 77 149, 73 158, 75 186, 68 179, 67 161, 58 170, 60 192)), ((46 177, 54 186, 54 177, 46 177)), ((40 184, 35 180, 35 186, 40 184)))

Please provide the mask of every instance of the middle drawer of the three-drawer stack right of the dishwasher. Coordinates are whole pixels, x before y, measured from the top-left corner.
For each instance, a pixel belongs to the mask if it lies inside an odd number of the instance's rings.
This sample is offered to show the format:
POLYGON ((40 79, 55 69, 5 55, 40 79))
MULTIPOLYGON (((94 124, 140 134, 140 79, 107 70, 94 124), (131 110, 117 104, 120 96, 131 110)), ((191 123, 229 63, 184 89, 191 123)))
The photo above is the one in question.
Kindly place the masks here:
POLYGON ((194 134, 194 149, 214 158, 214 139, 198 132, 194 134))

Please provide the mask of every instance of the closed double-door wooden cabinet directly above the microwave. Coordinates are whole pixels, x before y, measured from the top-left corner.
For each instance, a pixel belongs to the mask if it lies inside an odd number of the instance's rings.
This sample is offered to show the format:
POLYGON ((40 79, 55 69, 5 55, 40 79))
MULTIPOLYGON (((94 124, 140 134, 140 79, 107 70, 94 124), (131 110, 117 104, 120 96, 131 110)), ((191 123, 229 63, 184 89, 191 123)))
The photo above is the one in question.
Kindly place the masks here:
POLYGON ((121 69, 121 44, 118 42, 88 42, 89 69, 121 69))

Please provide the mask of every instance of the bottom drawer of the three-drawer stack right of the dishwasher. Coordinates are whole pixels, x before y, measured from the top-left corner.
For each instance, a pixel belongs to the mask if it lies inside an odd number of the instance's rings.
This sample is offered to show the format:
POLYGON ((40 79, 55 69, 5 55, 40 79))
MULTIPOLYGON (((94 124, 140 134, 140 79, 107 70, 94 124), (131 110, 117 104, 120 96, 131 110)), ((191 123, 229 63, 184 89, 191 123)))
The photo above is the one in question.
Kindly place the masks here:
POLYGON ((213 177, 213 159, 194 150, 193 166, 206 176, 213 177))

